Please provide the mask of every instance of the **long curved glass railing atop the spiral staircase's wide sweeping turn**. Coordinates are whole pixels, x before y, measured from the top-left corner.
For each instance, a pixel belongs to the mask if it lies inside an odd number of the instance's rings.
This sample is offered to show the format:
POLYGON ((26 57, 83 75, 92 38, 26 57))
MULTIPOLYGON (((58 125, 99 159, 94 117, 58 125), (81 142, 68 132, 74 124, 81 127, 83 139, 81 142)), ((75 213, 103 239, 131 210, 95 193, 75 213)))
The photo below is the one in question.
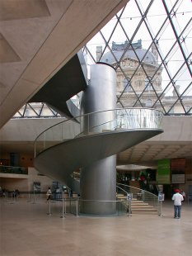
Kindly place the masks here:
POLYGON ((44 130, 35 140, 35 156, 53 145, 84 135, 116 130, 162 129, 162 116, 162 111, 149 108, 123 108, 76 116, 44 130))

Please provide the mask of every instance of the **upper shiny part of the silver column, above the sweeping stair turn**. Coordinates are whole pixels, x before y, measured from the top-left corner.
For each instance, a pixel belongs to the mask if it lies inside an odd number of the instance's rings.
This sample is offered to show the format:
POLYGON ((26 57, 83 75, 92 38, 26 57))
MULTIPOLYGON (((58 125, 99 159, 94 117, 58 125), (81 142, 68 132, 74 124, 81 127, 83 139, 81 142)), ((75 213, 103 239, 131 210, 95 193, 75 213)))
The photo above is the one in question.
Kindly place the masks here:
POLYGON ((104 111, 96 115, 83 116, 81 130, 97 126, 97 131, 109 129, 114 112, 105 112, 116 107, 116 72, 110 65, 91 65, 91 79, 86 90, 82 92, 81 114, 104 111), (100 126, 101 124, 105 126, 100 126))

